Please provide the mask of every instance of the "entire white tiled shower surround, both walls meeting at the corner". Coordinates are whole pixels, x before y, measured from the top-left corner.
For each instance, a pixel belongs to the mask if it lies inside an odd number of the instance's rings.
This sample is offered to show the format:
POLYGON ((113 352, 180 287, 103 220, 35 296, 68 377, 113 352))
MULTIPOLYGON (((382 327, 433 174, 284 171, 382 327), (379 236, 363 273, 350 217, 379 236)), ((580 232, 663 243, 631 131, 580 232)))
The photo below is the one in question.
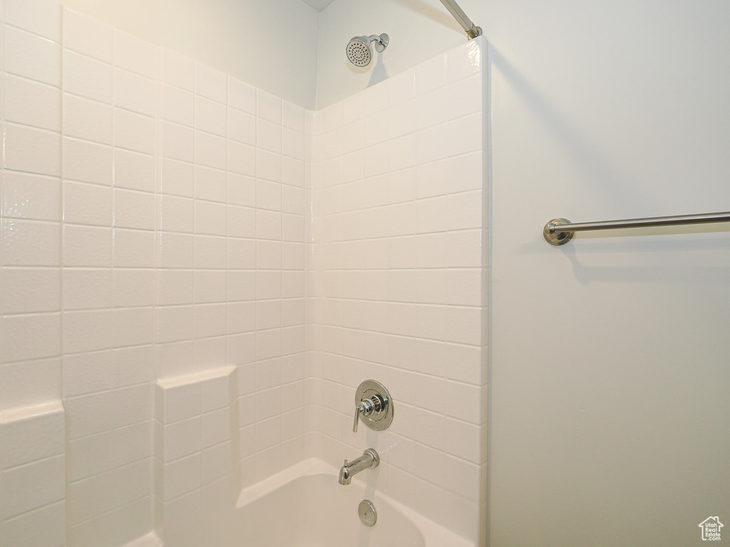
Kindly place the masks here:
POLYGON ((52 0, 0 14, 8 547, 162 535, 225 477, 368 446, 383 492, 476 538, 482 41, 312 113, 52 0), (371 377, 396 419, 354 435, 371 377))

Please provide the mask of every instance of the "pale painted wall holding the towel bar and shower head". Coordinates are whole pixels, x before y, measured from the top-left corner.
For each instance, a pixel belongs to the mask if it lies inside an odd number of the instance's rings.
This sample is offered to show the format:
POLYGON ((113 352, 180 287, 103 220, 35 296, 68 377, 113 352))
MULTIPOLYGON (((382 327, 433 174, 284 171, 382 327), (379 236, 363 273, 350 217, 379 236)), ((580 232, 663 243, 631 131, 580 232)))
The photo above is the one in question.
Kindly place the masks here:
MULTIPOLYGON (((729 209, 730 7, 460 4, 492 45, 491 546, 699 543, 730 501, 728 228, 541 232, 729 209)), ((325 9, 318 104, 372 77, 351 36, 391 35, 390 76, 463 40, 434 7, 325 9)))

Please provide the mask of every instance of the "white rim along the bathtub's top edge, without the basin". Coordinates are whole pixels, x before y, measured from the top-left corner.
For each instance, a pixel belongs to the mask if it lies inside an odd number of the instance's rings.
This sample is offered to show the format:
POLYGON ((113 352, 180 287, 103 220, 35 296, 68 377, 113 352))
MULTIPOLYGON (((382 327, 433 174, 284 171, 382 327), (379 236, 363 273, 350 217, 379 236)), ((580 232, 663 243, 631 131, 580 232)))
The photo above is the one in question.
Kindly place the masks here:
MULTIPOLYGON (((331 476, 333 480, 337 480, 338 473, 339 470, 337 468, 334 468, 334 466, 321 459, 304 459, 263 481, 247 486, 241 491, 236 503, 236 509, 244 508, 246 505, 255 502, 266 494, 274 492, 274 490, 280 489, 291 481, 296 480, 296 478, 326 474, 331 476)), ((364 481, 358 478, 353 479, 353 484, 361 487, 366 486, 364 481)), ((472 543, 456 532, 442 527, 440 524, 407 507, 407 505, 393 500, 387 494, 379 492, 377 495, 385 503, 391 505, 393 509, 401 513, 406 519, 410 520, 420 530, 426 541, 426 547, 476 547, 476 543, 472 543)))

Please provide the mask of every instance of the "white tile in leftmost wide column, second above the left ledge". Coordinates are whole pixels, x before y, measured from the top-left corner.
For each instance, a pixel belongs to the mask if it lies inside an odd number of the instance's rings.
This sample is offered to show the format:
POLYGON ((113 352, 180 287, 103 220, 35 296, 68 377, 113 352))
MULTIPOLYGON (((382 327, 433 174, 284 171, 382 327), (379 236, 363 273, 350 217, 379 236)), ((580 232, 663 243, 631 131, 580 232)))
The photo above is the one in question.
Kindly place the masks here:
POLYGON ((53 357, 61 352, 61 314, 3 317, 3 362, 53 357))

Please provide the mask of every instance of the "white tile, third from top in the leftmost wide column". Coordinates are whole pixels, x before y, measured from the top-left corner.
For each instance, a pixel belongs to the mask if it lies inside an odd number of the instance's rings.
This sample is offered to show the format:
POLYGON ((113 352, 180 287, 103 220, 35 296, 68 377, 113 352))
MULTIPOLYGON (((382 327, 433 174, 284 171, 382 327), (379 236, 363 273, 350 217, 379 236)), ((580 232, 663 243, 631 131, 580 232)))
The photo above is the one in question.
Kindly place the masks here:
POLYGON ((61 131, 61 92, 53 86, 7 74, 5 119, 50 131, 61 131))

